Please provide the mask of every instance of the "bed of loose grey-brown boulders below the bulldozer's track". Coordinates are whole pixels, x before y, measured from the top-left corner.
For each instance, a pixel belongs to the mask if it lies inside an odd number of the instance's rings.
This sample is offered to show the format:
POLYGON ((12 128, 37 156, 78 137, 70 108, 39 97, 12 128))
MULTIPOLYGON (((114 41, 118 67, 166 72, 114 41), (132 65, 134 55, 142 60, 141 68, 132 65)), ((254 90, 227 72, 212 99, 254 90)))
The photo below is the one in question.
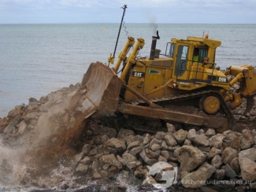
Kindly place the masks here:
POLYGON ((126 169, 142 181, 146 179, 143 185, 147 185, 150 166, 165 161, 178 166, 178 179, 184 187, 211 182, 218 187, 256 189, 256 129, 220 134, 213 129, 175 131, 168 124, 169 132, 139 136, 128 129, 116 132, 93 125, 87 130, 91 138, 72 160, 83 176, 107 179, 126 169))

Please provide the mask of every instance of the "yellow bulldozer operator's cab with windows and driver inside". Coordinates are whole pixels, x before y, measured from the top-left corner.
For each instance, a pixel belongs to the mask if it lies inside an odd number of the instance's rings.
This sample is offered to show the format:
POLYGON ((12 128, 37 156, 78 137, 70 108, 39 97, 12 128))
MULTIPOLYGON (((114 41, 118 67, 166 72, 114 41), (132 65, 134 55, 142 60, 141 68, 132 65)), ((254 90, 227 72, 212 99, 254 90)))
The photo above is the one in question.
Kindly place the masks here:
POLYGON ((183 84, 180 89, 196 89, 196 83, 212 85, 213 82, 220 82, 219 77, 224 75, 216 69, 215 63, 216 48, 220 45, 220 41, 208 38, 171 39, 169 56, 173 57, 174 63, 172 76, 176 82, 183 84))

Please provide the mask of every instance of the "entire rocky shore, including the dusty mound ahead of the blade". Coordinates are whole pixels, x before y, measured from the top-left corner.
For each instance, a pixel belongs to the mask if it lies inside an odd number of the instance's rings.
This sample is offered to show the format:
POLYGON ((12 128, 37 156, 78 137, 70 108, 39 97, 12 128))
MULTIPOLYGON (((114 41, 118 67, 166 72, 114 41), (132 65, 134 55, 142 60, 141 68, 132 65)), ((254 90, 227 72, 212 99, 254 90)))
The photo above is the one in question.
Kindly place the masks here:
MULTIPOLYGON (((24 154, 32 154, 32 163, 41 166, 38 170, 26 170, 35 175, 35 180, 47 176, 65 158, 69 159, 65 165, 76 175, 76 183, 87 180, 104 183, 123 173, 135 176, 137 185, 154 189, 163 175, 162 172, 150 175, 150 168, 166 162, 177 168, 176 183, 168 189, 207 191, 211 186, 211 191, 214 187, 256 190, 255 127, 217 133, 213 129, 186 130, 167 124, 166 132, 136 134, 121 127, 121 119, 115 117, 84 121, 80 103, 85 92, 80 84, 70 85, 39 101, 31 98, 28 105, 17 106, 0 119, 2 145, 17 150, 23 147, 24 154)), ((254 109, 251 111, 247 117, 254 118, 254 109)), ((242 112, 238 108, 236 115, 241 116, 242 112)), ((24 180, 25 186, 35 182, 24 180)), ((50 180, 46 180, 49 184, 50 180)), ((4 181, 0 179, 1 182, 4 181)), ((72 186, 62 183, 58 189, 69 190, 72 186)), ((115 190, 127 188, 117 185, 115 190)))

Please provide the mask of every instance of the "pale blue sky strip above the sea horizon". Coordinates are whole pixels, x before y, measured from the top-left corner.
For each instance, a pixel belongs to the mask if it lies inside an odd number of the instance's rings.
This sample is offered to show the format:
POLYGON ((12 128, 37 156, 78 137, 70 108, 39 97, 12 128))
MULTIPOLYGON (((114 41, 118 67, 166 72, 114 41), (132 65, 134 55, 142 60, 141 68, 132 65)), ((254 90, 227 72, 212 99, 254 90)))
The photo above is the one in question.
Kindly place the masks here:
POLYGON ((256 0, 0 0, 0 24, 256 24, 256 0))

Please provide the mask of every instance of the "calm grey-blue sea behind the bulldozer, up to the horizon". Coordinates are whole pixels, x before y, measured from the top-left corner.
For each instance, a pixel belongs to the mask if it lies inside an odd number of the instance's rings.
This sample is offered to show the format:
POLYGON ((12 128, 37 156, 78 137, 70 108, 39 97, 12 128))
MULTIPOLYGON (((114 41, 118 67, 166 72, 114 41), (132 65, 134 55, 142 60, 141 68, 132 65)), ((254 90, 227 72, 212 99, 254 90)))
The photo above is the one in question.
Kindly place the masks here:
MULTIPOLYGON (((107 63, 120 24, 0 24, 0 118, 28 99, 39 100, 62 87, 81 82, 91 62, 107 63)), ((256 61, 256 24, 124 24, 116 60, 128 36, 144 38, 139 56, 150 56, 152 36, 165 53, 171 38, 187 36, 221 40, 217 66, 256 61)))

